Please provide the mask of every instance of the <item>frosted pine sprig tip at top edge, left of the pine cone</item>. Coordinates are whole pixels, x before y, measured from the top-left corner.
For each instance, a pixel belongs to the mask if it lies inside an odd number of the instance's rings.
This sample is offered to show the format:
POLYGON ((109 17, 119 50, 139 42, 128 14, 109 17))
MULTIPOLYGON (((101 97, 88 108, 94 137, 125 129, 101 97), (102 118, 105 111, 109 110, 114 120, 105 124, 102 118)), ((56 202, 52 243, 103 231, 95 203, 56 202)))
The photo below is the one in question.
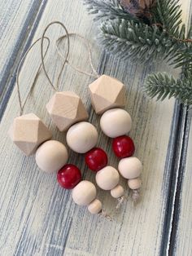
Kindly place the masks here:
POLYGON ((121 18, 125 20, 137 20, 133 15, 124 11, 119 0, 84 0, 89 14, 96 15, 94 20, 113 20, 121 18))

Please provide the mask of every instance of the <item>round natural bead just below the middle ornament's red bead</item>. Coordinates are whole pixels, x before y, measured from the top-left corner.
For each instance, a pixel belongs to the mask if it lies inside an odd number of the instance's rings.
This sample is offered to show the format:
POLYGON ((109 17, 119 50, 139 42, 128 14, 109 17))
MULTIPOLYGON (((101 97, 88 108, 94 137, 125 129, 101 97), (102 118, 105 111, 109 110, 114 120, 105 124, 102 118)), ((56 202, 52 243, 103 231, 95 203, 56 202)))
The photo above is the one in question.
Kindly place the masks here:
POLYGON ((112 166, 106 166, 97 172, 95 179, 99 188, 111 190, 119 183, 120 174, 112 166))

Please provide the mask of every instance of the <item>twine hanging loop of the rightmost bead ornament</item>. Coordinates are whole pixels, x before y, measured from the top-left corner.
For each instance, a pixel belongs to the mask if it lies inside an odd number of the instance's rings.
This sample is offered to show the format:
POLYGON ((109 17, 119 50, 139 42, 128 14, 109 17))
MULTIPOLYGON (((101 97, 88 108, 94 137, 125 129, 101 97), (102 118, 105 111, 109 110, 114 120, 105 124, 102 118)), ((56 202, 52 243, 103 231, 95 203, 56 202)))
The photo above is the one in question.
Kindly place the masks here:
POLYGON ((62 57, 62 58, 65 60, 65 62, 67 62, 68 65, 69 65, 71 68, 73 68, 74 70, 76 70, 78 73, 83 73, 83 74, 85 74, 85 75, 87 75, 87 76, 89 76, 89 77, 98 78, 99 75, 98 75, 96 69, 94 68, 94 64, 93 64, 93 60, 92 60, 91 47, 90 47, 90 45, 89 45, 89 41, 86 40, 86 39, 85 39, 83 36, 81 36, 81 34, 79 34, 79 33, 68 33, 68 36, 69 36, 69 37, 70 37, 70 36, 76 36, 76 37, 78 37, 78 38, 81 38, 81 40, 85 43, 85 46, 86 46, 87 51, 88 51, 88 54, 89 54, 89 64, 90 64, 90 67, 91 67, 93 73, 88 73, 88 72, 82 70, 81 68, 76 68, 74 65, 72 65, 72 64, 68 61, 68 59, 67 59, 67 60, 64 59, 63 53, 62 53, 62 51, 59 49, 59 42, 62 41, 63 39, 65 39, 65 38, 66 38, 66 35, 64 35, 64 36, 62 36, 62 37, 60 37, 60 38, 58 38, 57 41, 56 41, 56 49, 57 49, 57 51, 58 51, 59 56, 62 57))

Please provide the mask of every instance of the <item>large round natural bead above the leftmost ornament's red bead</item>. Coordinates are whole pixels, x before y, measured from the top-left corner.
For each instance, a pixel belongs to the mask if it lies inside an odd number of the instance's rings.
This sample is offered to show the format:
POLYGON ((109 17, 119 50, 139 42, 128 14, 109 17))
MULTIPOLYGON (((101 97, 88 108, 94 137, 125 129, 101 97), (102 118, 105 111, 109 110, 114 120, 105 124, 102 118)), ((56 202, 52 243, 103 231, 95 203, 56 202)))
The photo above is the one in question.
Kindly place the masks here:
POLYGON ((48 173, 55 172, 63 167, 68 161, 67 148, 56 140, 48 140, 37 148, 37 166, 48 173))

